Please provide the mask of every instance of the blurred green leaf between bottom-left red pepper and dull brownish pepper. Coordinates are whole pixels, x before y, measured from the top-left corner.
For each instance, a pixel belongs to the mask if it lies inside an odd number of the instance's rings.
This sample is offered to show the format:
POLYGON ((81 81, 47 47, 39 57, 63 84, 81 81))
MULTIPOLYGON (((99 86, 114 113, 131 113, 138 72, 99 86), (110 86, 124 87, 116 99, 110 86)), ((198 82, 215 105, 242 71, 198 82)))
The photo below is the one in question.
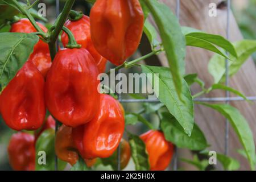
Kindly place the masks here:
POLYGON ((55 170, 55 151, 54 151, 55 131, 47 129, 43 131, 36 141, 36 171, 53 171, 55 170), (43 161, 43 155, 39 152, 46 152, 46 164, 39 164, 43 161))

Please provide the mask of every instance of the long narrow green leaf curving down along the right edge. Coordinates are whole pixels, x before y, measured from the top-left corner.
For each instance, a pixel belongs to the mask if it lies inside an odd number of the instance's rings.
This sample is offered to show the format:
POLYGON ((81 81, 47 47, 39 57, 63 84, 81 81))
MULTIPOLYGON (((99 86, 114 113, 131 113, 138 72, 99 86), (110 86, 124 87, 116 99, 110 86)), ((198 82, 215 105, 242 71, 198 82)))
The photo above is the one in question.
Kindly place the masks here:
POLYGON ((197 102, 198 104, 211 107, 214 110, 219 111, 224 117, 226 117, 231 123, 234 131, 246 151, 247 158, 249 160, 251 169, 255 168, 255 144, 253 139, 253 133, 251 133, 250 126, 246 119, 236 108, 225 104, 206 104, 204 102, 197 102))

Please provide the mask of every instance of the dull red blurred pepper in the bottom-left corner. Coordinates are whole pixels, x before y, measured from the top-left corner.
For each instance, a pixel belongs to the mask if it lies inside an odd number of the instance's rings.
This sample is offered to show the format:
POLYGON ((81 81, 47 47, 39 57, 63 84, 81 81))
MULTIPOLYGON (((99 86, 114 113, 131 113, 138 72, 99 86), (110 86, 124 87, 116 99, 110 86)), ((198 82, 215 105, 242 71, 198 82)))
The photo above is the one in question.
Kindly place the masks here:
POLYGON ((8 146, 9 162, 15 171, 35 170, 35 138, 27 133, 15 133, 8 146))

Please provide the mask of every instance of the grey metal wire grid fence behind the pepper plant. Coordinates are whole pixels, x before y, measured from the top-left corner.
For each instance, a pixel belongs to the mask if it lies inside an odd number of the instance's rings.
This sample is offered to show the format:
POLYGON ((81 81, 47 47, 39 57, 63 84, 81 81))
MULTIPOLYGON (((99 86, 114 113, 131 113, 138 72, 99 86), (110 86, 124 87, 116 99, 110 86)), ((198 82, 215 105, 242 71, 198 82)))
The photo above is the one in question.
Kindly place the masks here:
MULTIPOLYGON (((59 0, 56 0, 56 16, 59 15, 59 0)), ((176 0, 176 16, 177 19, 179 19, 180 16, 180 0, 176 0)), ((227 0, 227 16, 226 16, 226 39, 229 40, 230 36, 230 0, 227 0)), ((225 74, 226 74, 226 80, 225 80, 225 85, 229 85, 229 65, 228 65, 228 60, 225 60, 225 74)), ((119 70, 118 73, 121 73, 119 70)), ((247 97, 247 100, 250 101, 256 101, 256 96, 251 96, 247 97)), ((159 102, 159 100, 147 100, 147 99, 122 99, 122 95, 118 94, 118 101, 119 102, 126 102, 126 103, 131 103, 131 102, 159 102)), ((203 97, 203 98, 195 98, 194 101, 202 101, 202 102, 219 102, 223 101, 226 104, 229 104, 230 101, 245 101, 242 97, 230 97, 230 92, 226 91, 225 97, 203 97)), ((228 148, 229 147, 229 122, 228 119, 226 119, 225 123, 225 155, 228 155, 228 148)), ((117 169, 118 171, 121 170, 121 147, 118 147, 118 155, 117 155, 117 169)), ((174 171, 177 170, 177 148, 175 147, 175 153, 174 153, 174 158, 172 159, 172 168, 174 171)), ((56 160, 56 169, 57 169, 57 160, 56 160)))

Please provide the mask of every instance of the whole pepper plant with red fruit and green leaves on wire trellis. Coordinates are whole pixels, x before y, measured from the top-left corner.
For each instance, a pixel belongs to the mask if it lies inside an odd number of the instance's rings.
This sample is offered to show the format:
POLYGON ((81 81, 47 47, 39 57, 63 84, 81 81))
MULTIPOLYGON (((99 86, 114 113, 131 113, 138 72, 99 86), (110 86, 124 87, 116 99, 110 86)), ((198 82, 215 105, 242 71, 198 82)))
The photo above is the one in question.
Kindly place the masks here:
MULTIPOLYGON (((38 2, 0 0, 0 112, 2 122, 18 131, 9 146, 13 169, 61 170, 69 163, 71 170, 102 165, 115 170, 133 160, 136 170, 164 170, 170 166, 174 148, 179 147, 196 151, 193 160, 180 160, 205 170, 208 163, 197 155, 207 156, 210 144, 196 125, 195 104, 210 107, 228 119, 243 146, 240 153, 254 169, 253 133, 240 111, 228 104, 195 102, 195 98, 219 89, 246 100, 238 90, 223 85, 225 60, 229 60, 229 76, 233 76, 256 51, 255 40, 231 43, 220 35, 181 27, 170 8, 156 0, 84 1, 92 5, 90 17, 72 10, 75 0, 67 0, 47 29, 43 25, 47 19, 33 9, 38 2), (160 38, 148 15, 154 19, 160 38), (142 32, 152 51, 130 60, 142 32), (56 46, 59 36, 64 48, 56 46), (215 53, 209 61, 214 77, 209 88, 196 73, 185 74, 186 46, 215 53), (169 67, 139 63, 163 52, 169 67), (150 77, 148 80, 159 104, 147 103, 137 113, 127 112, 113 94, 99 93, 97 76, 105 72, 107 60, 116 65, 115 71, 140 67, 142 73, 157 77, 158 83, 150 77), (199 84, 201 92, 192 96, 192 84, 199 84), (159 124, 148 119, 152 114, 159 124), (139 136, 125 130, 125 126, 138 123, 148 131, 139 136), (129 143, 122 139, 124 133, 129 143), (15 151, 13 143, 17 142, 23 151, 15 151), (25 152, 28 149, 29 154, 25 152), (25 162, 15 159, 17 152, 25 162)), ((141 94, 130 97, 144 99, 141 94)), ((240 167, 236 159, 223 154, 217 154, 217 160, 226 170, 240 167)))

